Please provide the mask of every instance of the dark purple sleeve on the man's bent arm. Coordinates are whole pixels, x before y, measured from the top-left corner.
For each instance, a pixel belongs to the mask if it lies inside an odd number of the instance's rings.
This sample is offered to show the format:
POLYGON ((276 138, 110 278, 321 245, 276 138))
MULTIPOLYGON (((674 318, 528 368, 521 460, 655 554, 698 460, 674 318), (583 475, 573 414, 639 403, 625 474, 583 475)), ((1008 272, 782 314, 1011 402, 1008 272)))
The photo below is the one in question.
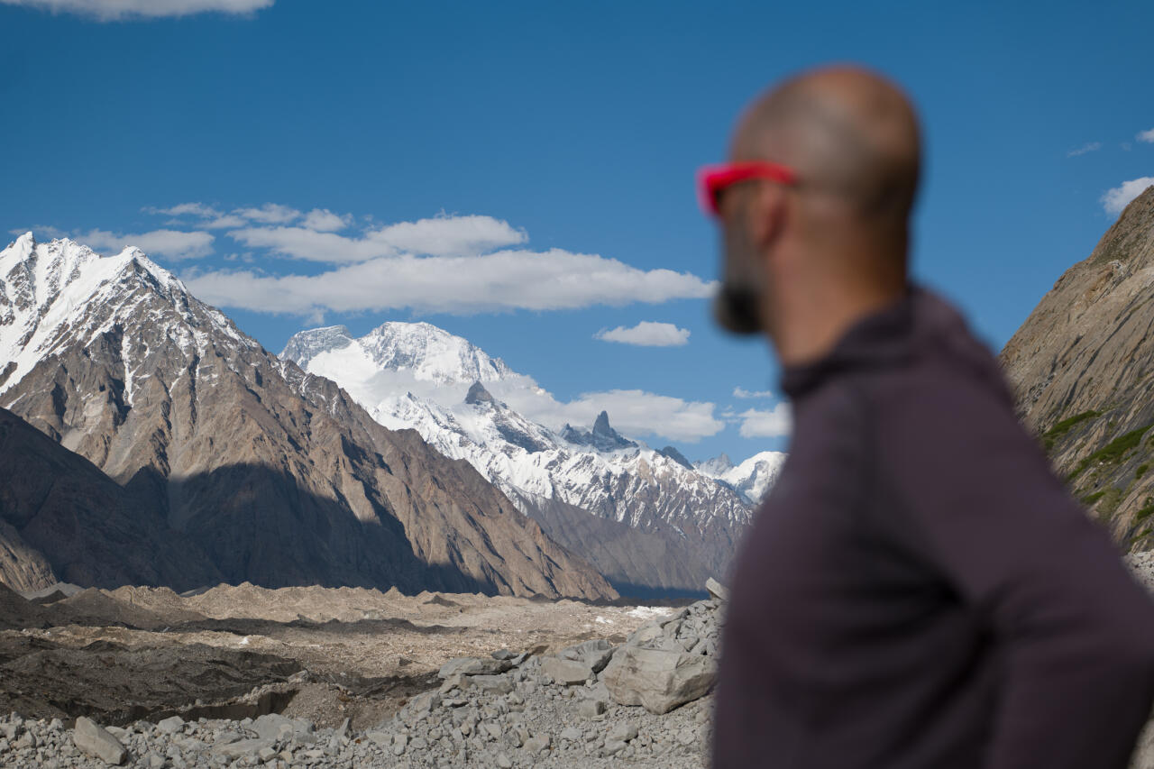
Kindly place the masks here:
POLYGON ((984 767, 1125 769, 1154 697, 1154 605, 999 394, 941 384, 870 432, 897 525, 1003 660, 984 767))

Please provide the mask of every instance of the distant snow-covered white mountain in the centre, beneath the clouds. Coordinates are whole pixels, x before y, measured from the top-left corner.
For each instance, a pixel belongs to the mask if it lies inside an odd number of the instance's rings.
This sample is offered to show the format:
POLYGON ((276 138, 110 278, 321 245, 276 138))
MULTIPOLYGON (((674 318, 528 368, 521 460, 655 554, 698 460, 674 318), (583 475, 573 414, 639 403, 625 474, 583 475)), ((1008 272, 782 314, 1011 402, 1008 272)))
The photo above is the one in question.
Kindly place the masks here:
MULTIPOLYGON (((661 584, 652 563, 594 559, 610 581, 699 589, 692 580, 724 574, 749 523, 744 491, 670 447, 622 436, 605 412, 591 430, 526 417, 560 409, 531 376, 429 323, 384 323, 359 338, 344 327, 301 331, 282 357, 339 383, 382 425, 412 427, 447 456, 467 461, 547 530, 540 512, 562 503, 664 538, 665 555, 675 546, 695 561, 689 582, 673 585, 661 584)), ((586 555, 580 543, 562 544, 586 555)))

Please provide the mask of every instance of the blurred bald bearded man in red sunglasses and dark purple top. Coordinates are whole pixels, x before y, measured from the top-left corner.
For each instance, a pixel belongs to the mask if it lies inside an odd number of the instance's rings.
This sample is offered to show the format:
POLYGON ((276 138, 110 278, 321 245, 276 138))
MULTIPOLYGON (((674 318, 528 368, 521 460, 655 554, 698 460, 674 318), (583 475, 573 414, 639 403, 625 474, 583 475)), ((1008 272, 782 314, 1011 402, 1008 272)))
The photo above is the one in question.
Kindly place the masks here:
POLYGON ((837 67, 757 100, 703 170, 718 319, 765 334, 794 415, 733 575, 714 764, 1123 769, 1154 609, 991 354, 909 284, 919 158, 901 91, 837 67))

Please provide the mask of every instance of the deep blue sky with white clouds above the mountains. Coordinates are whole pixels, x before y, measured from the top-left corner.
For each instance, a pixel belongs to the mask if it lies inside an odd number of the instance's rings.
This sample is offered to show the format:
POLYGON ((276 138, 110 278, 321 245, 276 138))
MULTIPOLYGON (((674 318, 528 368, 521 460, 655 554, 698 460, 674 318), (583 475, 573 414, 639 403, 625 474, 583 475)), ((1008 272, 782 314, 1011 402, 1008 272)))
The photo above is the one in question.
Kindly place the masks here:
POLYGON ((1147 2, 0 0, 0 29, 6 231, 140 245, 272 351, 427 320, 562 401, 624 391, 691 458, 786 446, 775 397, 734 395, 777 367, 710 321, 692 191, 773 81, 907 88, 915 271, 994 348, 1154 177, 1147 2), (675 328, 614 333, 642 322, 675 328))

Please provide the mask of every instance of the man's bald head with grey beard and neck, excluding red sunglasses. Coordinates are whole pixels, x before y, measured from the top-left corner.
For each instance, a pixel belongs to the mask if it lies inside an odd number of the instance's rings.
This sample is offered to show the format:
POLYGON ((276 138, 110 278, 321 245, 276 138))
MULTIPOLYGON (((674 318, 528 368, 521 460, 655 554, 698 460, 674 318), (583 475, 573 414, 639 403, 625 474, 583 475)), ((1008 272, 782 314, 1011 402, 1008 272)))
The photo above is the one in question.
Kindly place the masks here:
POLYGON ((797 181, 722 193, 721 326, 764 331, 800 360, 901 296, 920 155, 909 102, 869 70, 811 70, 757 99, 730 159, 786 165, 797 181))

